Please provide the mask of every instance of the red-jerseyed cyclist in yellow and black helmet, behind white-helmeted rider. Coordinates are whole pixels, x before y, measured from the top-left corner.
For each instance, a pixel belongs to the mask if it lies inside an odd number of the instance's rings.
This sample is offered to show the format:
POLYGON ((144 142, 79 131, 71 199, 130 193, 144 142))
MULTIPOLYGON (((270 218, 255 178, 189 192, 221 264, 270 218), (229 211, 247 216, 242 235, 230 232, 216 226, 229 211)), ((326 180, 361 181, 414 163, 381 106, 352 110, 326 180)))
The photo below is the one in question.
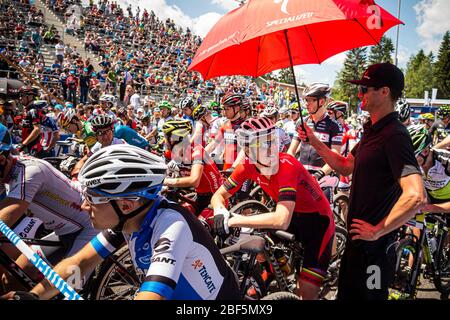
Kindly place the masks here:
POLYGON ((200 144, 191 143, 191 121, 170 120, 164 123, 162 130, 172 159, 168 167, 172 171, 179 171, 182 176, 166 178, 164 185, 174 188, 194 187, 199 215, 222 185, 219 169, 200 144))

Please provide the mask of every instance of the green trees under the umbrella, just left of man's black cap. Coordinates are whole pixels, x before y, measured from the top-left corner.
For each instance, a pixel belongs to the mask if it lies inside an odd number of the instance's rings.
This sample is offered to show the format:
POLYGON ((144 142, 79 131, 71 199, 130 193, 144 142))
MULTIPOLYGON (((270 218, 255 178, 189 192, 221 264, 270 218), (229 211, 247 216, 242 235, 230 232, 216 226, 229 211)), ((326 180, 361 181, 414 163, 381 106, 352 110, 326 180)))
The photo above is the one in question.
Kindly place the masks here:
POLYGON ((355 112, 358 105, 358 88, 348 82, 360 79, 367 66, 367 48, 356 48, 347 52, 344 66, 338 72, 333 87, 333 98, 349 103, 350 110, 355 112))

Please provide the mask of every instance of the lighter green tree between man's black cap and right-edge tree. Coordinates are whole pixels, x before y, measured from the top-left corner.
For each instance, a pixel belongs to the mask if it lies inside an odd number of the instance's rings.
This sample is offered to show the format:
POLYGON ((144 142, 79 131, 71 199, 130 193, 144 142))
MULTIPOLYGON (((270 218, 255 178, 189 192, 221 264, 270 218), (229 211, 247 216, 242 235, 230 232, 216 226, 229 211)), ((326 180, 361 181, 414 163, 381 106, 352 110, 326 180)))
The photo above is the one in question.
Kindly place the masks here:
POLYGON ((423 98, 425 91, 433 87, 433 53, 425 55, 419 50, 411 56, 406 64, 405 72, 405 96, 407 98, 423 98))

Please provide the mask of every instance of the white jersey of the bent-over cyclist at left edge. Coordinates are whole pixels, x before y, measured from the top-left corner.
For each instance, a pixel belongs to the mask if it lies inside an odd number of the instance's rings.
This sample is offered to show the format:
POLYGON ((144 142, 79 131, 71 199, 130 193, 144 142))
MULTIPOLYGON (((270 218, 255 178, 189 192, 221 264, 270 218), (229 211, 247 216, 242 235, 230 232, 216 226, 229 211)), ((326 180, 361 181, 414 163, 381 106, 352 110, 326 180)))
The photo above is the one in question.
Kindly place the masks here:
POLYGON ((14 161, 0 185, 6 197, 28 202, 31 215, 57 235, 93 229, 89 214, 81 209, 80 190, 64 174, 41 159, 21 156, 14 161))

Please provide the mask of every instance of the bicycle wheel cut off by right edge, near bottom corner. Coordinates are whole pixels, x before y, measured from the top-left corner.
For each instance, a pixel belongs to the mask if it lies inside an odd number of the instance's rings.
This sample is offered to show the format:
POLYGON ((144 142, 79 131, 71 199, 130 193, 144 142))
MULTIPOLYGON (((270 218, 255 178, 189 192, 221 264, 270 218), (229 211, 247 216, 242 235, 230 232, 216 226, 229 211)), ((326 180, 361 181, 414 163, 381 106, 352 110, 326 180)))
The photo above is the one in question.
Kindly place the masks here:
POLYGON ((436 266, 434 285, 442 294, 450 293, 450 234, 443 232, 439 236, 436 250, 436 266))

